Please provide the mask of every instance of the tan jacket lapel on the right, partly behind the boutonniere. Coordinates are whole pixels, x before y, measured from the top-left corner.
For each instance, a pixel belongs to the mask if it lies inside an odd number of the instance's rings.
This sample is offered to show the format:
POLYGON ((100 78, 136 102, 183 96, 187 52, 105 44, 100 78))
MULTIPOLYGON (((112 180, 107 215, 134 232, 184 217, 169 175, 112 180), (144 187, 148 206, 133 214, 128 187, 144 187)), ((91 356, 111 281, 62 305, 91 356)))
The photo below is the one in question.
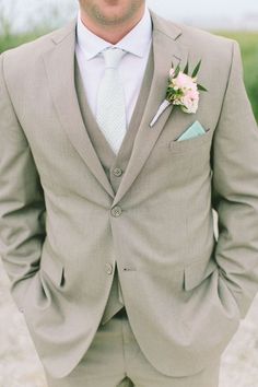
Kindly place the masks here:
POLYGON ((164 128, 173 107, 169 106, 150 128, 150 122, 156 114, 160 105, 165 98, 167 87, 168 72, 172 67, 180 63, 184 68, 187 62, 188 49, 179 42, 180 30, 165 24, 160 17, 152 13, 153 21, 153 55, 154 55, 154 74, 151 85, 146 107, 139 127, 130 161, 125 172, 124 178, 119 185, 113 206, 117 204, 128 191, 146 159, 149 157, 162 129, 164 128))

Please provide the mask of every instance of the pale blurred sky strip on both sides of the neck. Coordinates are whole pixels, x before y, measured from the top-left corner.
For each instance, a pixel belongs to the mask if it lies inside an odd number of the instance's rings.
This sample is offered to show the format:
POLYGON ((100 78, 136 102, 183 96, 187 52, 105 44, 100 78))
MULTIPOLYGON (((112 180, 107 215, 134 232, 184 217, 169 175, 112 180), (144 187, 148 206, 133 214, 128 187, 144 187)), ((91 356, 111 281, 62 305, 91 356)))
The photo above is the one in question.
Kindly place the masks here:
MULTIPOLYGON (((146 3, 156 13, 178 22, 215 25, 224 21, 234 24, 247 17, 257 21, 258 30, 258 0, 146 0, 146 3)), ((67 20, 74 15, 78 0, 0 0, 1 4, 13 10, 16 25, 24 25, 25 21, 49 17, 47 10, 52 4, 67 20)))

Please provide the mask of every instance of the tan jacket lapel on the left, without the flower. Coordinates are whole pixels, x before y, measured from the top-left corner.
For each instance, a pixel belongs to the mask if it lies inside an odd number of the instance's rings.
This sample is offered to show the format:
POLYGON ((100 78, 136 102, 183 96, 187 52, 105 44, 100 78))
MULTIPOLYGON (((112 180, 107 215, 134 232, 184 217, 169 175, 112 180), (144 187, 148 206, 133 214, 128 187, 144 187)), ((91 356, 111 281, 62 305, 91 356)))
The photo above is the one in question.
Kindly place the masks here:
POLYGON ((56 33, 55 46, 44 55, 54 105, 71 143, 104 189, 115 192, 84 126, 74 84, 75 22, 56 33))

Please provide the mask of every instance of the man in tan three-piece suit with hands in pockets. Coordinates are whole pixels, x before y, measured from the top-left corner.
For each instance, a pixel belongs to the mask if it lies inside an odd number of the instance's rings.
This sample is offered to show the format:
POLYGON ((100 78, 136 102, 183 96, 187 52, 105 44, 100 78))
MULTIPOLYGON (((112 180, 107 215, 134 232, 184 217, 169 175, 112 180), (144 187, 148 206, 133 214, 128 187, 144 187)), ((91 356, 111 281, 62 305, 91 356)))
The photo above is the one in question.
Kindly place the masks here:
POLYGON ((0 61, 1 255, 49 386, 218 386, 258 283, 237 44, 81 0, 0 61))

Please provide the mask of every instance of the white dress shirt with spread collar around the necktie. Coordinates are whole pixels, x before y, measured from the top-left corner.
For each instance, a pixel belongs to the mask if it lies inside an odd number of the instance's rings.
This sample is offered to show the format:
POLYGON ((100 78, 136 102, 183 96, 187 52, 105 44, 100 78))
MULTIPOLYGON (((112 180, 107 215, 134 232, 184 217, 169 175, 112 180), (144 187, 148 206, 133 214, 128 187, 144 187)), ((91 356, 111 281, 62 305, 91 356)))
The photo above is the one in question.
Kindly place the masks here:
POLYGON ((119 47, 127 51, 119 63, 119 77, 125 92, 127 127, 139 96, 150 48, 152 44, 152 21, 145 8, 141 21, 116 45, 93 34, 78 15, 75 55, 82 74, 87 103, 96 117, 97 91, 104 75, 105 62, 101 51, 107 47, 119 47))

